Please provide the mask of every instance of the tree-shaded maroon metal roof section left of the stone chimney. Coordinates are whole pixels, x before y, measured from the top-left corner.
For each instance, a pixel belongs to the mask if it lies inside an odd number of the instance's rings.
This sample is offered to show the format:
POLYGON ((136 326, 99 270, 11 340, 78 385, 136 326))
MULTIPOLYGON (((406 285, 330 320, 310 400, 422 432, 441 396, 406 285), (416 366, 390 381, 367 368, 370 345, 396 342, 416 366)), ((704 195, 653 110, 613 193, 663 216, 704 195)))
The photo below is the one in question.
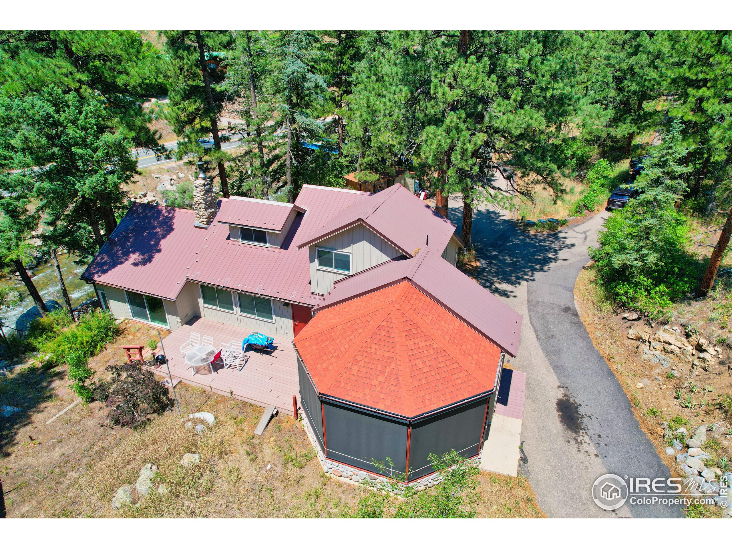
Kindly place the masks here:
POLYGON ((82 279, 175 299, 203 231, 189 209, 132 203, 82 279))

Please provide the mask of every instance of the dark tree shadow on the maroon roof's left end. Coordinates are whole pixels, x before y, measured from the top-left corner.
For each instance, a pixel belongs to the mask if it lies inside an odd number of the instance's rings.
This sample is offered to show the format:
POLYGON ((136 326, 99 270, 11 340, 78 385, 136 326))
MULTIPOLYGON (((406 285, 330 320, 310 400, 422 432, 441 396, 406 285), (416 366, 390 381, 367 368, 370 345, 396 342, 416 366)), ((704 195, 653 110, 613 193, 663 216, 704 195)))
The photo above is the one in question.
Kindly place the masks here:
POLYGON ((83 276, 105 275, 130 260, 135 267, 152 263, 173 232, 175 217, 174 208, 133 204, 83 276))

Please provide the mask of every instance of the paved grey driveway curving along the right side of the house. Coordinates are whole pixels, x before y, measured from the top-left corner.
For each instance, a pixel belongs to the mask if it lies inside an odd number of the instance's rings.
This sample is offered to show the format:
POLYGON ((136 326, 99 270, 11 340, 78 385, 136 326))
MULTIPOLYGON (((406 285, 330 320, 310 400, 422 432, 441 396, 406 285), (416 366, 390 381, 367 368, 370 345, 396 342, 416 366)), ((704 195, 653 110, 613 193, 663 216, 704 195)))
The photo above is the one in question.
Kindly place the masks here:
MULTIPOLYGON (((457 198, 457 197, 456 197, 457 198)), ((479 281, 523 314, 518 357, 526 372, 522 441, 531 486, 550 517, 683 517, 679 508, 600 509, 591 486, 605 473, 668 477, 610 367, 594 348, 573 288, 587 247, 608 214, 554 234, 529 236, 505 212, 474 215, 479 281)), ((460 225, 460 201, 450 218, 460 225)))

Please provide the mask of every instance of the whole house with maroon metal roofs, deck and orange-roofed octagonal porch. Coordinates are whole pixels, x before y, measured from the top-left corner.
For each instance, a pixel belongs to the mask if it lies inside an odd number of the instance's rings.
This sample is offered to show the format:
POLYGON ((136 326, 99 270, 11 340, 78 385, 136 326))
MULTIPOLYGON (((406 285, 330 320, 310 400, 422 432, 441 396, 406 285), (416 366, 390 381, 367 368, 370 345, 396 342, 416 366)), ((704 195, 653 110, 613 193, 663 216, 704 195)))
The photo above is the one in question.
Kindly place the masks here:
POLYGON ((117 318, 172 331, 173 376, 286 414, 296 402, 336 476, 424 482, 430 453, 479 455, 521 317, 455 267, 455 225, 402 185, 217 203, 201 173, 194 203, 133 204, 82 275, 117 318), (196 372, 178 352, 192 332, 274 344, 196 372))

